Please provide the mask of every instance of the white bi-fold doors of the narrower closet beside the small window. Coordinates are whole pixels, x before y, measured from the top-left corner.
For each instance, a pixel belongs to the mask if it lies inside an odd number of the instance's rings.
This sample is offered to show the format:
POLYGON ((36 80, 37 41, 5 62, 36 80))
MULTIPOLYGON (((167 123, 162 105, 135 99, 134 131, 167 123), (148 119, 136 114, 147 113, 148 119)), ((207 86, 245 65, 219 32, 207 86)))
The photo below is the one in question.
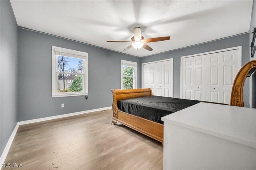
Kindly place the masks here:
POLYGON ((172 97, 172 59, 143 64, 143 88, 153 95, 172 97))

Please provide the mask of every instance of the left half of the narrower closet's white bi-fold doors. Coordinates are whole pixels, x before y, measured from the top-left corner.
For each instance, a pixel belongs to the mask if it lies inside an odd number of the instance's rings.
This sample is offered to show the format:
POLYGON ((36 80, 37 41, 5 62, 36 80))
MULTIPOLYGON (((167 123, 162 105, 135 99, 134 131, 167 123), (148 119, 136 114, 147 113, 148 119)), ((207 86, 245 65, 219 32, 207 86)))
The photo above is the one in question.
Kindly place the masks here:
POLYGON ((145 64, 143 66, 143 88, 150 88, 153 95, 156 95, 156 71, 155 64, 145 64))

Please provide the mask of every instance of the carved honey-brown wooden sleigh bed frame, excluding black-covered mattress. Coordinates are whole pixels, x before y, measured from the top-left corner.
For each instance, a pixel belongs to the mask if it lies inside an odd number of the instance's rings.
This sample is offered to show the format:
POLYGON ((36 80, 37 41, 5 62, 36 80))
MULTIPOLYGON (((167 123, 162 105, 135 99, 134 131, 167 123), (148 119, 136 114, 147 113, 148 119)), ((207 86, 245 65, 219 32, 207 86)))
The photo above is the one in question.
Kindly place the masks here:
MULTIPOLYGON (((245 64, 234 80, 230 105, 244 107, 243 103, 243 86, 246 77, 250 77, 253 71, 256 69, 256 60, 252 60, 245 64)), ((130 127, 142 134, 145 134, 155 140, 163 142, 164 138, 164 125, 149 121, 142 117, 134 116, 129 113, 122 112, 118 109, 118 101, 124 99, 132 99, 137 97, 152 96, 151 89, 128 89, 128 90, 112 90, 113 93, 113 118, 112 124, 115 125, 117 122, 130 127)))

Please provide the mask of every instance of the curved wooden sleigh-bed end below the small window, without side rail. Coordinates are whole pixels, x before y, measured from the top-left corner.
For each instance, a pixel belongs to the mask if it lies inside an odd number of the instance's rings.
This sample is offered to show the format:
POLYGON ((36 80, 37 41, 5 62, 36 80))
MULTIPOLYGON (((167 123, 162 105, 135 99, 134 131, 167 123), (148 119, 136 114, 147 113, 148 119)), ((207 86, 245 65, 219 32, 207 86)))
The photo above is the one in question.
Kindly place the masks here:
POLYGON ((124 89, 124 90, 111 90, 113 93, 113 116, 117 117, 117 102, 124 99, 131 99, 136 97, 152 96, 152 91, 148 89, 124 89))

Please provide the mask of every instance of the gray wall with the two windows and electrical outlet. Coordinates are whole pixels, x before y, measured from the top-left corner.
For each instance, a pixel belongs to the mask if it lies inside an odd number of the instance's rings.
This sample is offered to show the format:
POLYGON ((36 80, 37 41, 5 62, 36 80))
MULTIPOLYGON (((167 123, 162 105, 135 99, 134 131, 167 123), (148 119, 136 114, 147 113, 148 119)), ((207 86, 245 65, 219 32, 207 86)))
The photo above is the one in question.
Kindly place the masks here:
POLYGON ((112 106, 110 90, 121 88, 121 59, 140 65, 138 57, 21 28, 18 33, 19 121, 112 106), (89 53, 87 100, 84 96, 51 96, 52 45, 89 53), (61 103, 65 108, 61 108, 61 103))

